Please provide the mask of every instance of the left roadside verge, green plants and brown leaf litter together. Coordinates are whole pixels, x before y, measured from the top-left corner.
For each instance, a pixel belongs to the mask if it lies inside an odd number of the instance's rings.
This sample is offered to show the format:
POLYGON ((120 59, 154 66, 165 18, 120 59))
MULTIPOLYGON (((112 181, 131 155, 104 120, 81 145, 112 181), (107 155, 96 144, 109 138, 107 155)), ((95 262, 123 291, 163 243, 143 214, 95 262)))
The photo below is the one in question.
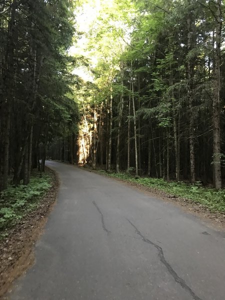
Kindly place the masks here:
POLYGON ((33 245, 59 186, 56 173, 49 168, 44 173, 34 169, 26 185, 12 185, 9 179, 7 188, 0 192, 0 299, 33 262, 33 245))

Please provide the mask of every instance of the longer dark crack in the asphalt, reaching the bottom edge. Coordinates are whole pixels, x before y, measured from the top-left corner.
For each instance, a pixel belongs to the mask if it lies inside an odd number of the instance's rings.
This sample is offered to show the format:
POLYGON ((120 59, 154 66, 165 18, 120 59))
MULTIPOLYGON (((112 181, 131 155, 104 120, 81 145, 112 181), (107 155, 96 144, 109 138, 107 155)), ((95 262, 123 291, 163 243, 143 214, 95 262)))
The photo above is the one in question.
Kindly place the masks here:
POLYGON ((158 256, 160 258, 160 261, 164 264, 164 266, 167 268, 168 272, 172 275, 175 281, 179 283, 182 286, 182 288, 187 290, 194 300, 202 300, 192 291, 192 289, 186 284, 186 282, 177 275, 172 266, 166 261, 162 248, 159 245, 147 239, 145 236, 143 236, 141 232, 137 229, 137 227, 129 219, 127 219, 127 221, 130 223, 130 225, 133 226, 133 228, 136 230, 136 233, 141 237, 141 239, 144 242, 154 246, 158 250, 158 256))

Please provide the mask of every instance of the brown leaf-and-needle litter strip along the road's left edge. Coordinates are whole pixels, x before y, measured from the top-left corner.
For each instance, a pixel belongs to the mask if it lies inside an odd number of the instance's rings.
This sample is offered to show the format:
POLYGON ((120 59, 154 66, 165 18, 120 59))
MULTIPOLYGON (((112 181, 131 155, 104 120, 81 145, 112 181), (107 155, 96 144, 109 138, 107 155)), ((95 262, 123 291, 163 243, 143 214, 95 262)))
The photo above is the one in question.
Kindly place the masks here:
POLYGON ((59 187, 56 173, 49 168, 46 173, 51 187, 38 198, 36 208, 7 229, 5 237, 0 239, 0 299, 12 281, 34 261, 34 243, 42 232, 59 187))

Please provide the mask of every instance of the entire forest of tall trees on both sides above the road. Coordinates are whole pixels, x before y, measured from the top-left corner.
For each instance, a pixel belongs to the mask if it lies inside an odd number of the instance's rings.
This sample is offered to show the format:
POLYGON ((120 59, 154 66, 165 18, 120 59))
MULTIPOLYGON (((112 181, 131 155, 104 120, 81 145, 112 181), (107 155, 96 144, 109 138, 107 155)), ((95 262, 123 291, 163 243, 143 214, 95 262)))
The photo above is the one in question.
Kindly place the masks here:
POLYGON ((216 189, 222 0, 0 1, 0 188, 46 158, 216 189))

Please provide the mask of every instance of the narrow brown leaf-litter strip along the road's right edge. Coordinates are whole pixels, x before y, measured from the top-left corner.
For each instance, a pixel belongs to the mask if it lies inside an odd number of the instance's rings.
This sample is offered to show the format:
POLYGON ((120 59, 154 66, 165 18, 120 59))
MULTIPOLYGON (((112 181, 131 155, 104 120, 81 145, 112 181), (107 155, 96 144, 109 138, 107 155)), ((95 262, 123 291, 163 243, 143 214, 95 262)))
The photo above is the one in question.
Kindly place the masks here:
POLYGON ((170 194, 169 192, 165 192, 163 190, 160 190, 159 188, 145 186, 140 183, 141 180, 139 180, 140 182, 138 182, 137 180, 135 180, 134 177, 132 177, 131 180, 130 179, 127 180, 126 176, 122 176, 122 175, 117 176, 116 173, 113 172, 107 173, 102 169, 93 170, 90 167, 87 167, 86 165, 85 167, 83 166, 80 167, 89 172, 96 172, 103 176, 113 177, 115 180, 123 182, 124 184, 129 185, 135 189, 137 188, 138 190, 144 192, 149 196, 156 196, 157 198, 160 198, 164 201, 172 202, 173 204, 181 207, 183 211, 189 212, 201 218, 204 222, 207 223, 207 225, 211 227, 215 227, 217 230, 221 230, 221 231, 225 230, 225 210, 217 211, 215 209, 210 209, 210 207, 207 207, 202 203, 195 202, 191 199, 170 194))

